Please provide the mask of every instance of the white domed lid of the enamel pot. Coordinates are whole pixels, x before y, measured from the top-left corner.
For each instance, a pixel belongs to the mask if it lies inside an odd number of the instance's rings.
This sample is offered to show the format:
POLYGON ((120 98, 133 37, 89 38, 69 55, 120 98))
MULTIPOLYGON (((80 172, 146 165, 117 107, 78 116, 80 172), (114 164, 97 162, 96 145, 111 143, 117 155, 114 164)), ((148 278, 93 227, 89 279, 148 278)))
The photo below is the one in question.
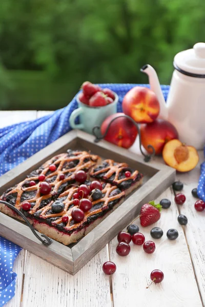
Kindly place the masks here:
POLYGON ((205 43, 197 42, 193 49, 177 53, 174 68, 190 77, 205 78, 205 43))

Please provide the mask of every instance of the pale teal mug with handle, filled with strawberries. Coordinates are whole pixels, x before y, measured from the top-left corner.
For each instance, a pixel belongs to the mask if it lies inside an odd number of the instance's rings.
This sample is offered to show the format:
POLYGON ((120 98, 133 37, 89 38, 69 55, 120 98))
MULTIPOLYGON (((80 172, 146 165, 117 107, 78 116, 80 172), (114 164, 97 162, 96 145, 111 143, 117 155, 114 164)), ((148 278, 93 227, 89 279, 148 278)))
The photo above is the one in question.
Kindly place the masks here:
POLYGON ((89 134, 92 134, 93 127, 96 125, 101 126, 104 120, 112 114, 117 112, 118 96, 115 94, 115 100, 105 106, 89 106, 82 103, 76 97, 78 108, 75 109, 69 119, 70 125, 73 129, 81 129, 89 134), (75 124, 76 117, 79 116, 79 124, 75 124))

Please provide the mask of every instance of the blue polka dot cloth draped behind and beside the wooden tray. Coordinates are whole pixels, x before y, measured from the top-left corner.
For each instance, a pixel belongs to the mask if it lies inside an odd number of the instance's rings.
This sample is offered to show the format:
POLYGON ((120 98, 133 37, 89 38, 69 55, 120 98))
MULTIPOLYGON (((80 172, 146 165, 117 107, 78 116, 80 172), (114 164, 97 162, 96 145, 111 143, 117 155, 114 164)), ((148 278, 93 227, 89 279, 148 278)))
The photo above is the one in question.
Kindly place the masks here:
MULTIPOLYGON (((122 99, 133 86, 149 87, 148 84, 99 85, 117 93, 117 112, 122 112, 122 99)), ((161 89, 167 99, 169 86, 161 85, 161 89)), ((0 176, 70 131, 69 117, 75 108, 76 96, 66 107, 50 115, 0 129, 0 176)), ((0 237, 0 307, 14 296, 16 274, 12 272, 12 267, 19 251, 20 247, 0 237)))

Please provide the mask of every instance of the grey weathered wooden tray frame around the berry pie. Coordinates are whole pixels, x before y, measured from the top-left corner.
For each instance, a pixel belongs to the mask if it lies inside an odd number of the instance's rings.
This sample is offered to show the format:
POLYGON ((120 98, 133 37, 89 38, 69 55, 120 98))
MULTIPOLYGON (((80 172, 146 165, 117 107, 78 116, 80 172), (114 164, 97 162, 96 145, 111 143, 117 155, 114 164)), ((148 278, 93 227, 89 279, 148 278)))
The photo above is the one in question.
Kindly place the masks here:
POLYGON ((48 159, 69 148, 91 150, 91 153, 95 153, 103 159, 109 158, 116 162, 127 162, 130 167, 144 174, 144 184, 141 187, 132 192, 124 203, 90 233, 70 246, 53 240, 53 243, 46 247, 33 235, 26 224, 0 212, 0 235, 74 275, 137 216, 143 204, 156 199, 174 182, 175 170, 155 162, 145 163, 143 158, 135 153, 106 141, 100 141, 96 144, 94 136, 79 130, 72 130, 16 168, 5 173, 0 178, 0 195, 7 188, 24 180, 29 172, 38 168, 48 159))

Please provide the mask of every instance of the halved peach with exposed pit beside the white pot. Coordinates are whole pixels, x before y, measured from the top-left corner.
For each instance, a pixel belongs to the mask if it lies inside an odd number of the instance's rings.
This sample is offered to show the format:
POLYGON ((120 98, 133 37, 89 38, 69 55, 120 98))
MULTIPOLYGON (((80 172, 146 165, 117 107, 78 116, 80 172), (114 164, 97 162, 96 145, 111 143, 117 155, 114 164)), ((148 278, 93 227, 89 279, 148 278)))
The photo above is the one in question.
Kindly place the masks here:
POLYGON ((196 148, 183 144, 176 139, 165 144, 162 157, 166 164, 180 172, 192 170, 199 161, 196 148))

